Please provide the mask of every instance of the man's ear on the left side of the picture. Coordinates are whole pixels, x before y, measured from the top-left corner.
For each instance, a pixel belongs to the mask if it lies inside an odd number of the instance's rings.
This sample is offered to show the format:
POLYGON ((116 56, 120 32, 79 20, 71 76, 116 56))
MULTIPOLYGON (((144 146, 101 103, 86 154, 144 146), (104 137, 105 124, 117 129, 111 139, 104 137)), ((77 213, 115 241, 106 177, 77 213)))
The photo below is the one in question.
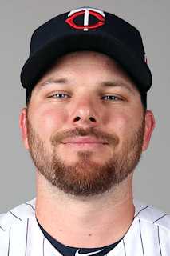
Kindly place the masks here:
POLYGON ((26 108, 22 109, 20 114, 19 126, 22 130, 22 142, 26 150, 29 150, 26 126, 26 108))

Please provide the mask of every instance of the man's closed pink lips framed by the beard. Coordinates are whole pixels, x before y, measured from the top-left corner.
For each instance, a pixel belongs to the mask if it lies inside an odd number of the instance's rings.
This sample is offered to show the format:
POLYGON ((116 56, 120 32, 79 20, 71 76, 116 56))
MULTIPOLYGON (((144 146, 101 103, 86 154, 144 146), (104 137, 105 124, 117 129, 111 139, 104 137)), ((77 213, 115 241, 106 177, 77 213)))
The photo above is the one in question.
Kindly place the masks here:
POLYGON ((77 150, 93 150, 101 146, 108 145, 107 142, 103 142, 98 138, 92 138, 92 137, 69 138, 65 142, 62 142, 62 144, 77 150))

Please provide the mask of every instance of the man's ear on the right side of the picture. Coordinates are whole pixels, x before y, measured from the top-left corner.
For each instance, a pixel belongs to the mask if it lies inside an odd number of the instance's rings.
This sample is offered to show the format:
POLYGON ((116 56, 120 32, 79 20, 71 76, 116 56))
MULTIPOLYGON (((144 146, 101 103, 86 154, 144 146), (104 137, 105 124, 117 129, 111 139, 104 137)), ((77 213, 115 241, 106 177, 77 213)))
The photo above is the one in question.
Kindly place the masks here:
POLYGON ((148 110, 145 114, 145 127, 144 127, 144 142, 142 146, 142 151, 147 150, 148 144, 152 135, 152 131, 155 128, 155 118, 152 111, 148 110))

